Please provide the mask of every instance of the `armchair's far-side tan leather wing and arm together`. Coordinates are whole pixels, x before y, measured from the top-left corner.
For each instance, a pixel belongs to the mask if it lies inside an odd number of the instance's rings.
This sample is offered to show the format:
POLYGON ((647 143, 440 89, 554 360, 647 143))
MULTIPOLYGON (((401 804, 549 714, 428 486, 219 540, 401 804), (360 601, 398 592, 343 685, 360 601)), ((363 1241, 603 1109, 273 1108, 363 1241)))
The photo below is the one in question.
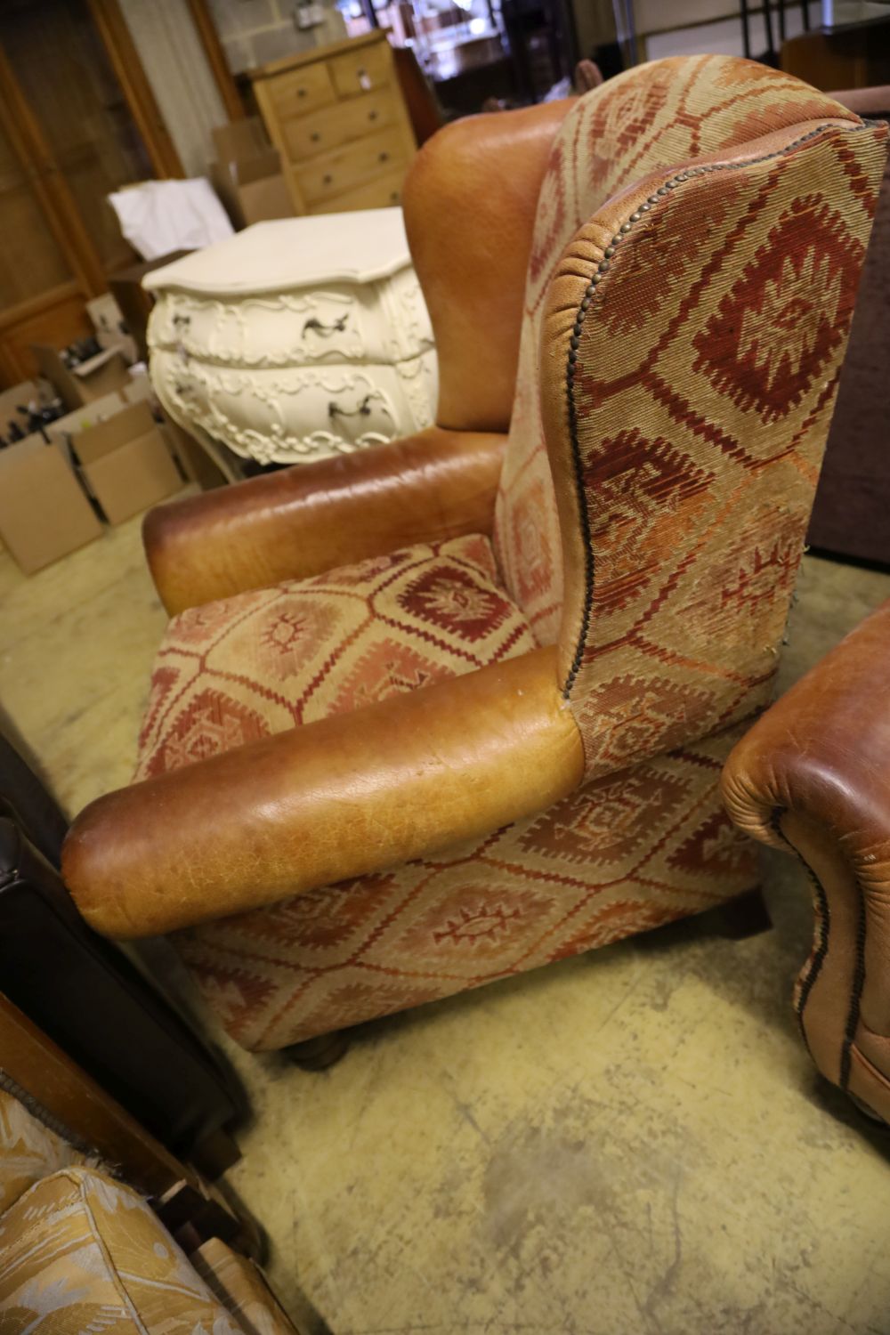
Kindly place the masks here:
POLYGON ((408 174, 406 228, 439 355, 438 426, 152 511, 145 550, 171 614, 403 543, 491 531, 503 447, 494 437, 510 426, 538 191, 570 107, 464 117, 408 174))

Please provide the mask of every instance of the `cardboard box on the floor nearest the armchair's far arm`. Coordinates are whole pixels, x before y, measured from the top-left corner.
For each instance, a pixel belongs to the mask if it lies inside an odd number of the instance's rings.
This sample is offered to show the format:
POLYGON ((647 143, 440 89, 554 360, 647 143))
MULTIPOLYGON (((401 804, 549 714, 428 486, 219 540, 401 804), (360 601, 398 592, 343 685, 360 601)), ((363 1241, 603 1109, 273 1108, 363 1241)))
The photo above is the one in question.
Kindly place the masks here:
POLYGON ((73 441, 80 471, 109 523, 179 491, 183 479, 147 403, 132 403, 73 441))

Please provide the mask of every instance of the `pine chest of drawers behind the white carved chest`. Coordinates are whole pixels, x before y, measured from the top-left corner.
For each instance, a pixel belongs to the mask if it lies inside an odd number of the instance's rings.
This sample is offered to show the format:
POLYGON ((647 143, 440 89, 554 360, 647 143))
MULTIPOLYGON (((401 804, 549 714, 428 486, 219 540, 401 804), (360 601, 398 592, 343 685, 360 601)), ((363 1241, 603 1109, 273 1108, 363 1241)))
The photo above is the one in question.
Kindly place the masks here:
POLYGON ((382 32, 275 60, 251 80, 296 214, 400 202, 416 143, 382 32))

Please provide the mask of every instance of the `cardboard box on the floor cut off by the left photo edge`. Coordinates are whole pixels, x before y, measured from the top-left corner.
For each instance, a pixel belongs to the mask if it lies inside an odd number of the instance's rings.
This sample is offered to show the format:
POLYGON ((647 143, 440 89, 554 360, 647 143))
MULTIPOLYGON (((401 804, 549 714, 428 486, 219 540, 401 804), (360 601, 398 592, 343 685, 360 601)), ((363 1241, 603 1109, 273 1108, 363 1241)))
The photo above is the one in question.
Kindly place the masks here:
POLYGON ((0 450, 0 538, 25 574, 100 534, 76 477, 41 435, 0 450))

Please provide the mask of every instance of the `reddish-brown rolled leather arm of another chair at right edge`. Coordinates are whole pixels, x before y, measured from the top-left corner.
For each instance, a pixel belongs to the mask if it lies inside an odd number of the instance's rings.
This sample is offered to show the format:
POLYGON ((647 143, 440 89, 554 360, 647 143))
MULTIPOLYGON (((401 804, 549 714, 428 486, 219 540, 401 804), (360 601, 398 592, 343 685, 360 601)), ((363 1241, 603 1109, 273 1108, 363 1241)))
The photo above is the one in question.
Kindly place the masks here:
POLYGON ((823 1075, 890 1121, 890 602, 751 728, 723 797, 741 829, 807 865, 801 1027, 823 1075))

